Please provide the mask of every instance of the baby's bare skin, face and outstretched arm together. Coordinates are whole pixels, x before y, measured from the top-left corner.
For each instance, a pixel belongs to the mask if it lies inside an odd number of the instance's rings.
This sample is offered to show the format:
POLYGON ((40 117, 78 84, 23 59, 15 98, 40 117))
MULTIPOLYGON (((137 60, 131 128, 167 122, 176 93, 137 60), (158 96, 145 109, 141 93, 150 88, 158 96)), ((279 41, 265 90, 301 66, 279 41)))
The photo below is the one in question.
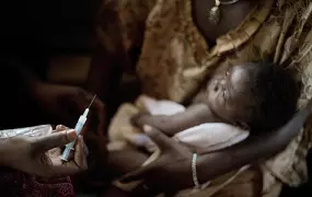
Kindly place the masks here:
POLYGON ((204 123, 228 123, 246 126, 244 106, 251 104, 250 77, 243 66, 221 67, 201 91, 199 99, 183 113, 172 116, 139 115, 132 120, 157 126, 169 136, 204 123))

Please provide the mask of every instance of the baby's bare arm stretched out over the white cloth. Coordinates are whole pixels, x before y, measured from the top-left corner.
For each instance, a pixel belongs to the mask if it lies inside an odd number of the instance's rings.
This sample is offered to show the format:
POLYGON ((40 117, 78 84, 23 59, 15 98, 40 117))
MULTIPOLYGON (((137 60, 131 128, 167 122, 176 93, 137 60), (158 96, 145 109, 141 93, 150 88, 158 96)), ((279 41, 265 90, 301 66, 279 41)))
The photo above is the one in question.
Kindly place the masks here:
POLYGON ((186 108, 185 112, 175 115, 139 115, 134 117, 134 124, 142 127, 150 125, 161 129, 169 136, 185 130, 187 128, 204 124, 204 123, 218 123, 218 118, 213 116, 211 111, 206 104, 193 104, 186 108))

